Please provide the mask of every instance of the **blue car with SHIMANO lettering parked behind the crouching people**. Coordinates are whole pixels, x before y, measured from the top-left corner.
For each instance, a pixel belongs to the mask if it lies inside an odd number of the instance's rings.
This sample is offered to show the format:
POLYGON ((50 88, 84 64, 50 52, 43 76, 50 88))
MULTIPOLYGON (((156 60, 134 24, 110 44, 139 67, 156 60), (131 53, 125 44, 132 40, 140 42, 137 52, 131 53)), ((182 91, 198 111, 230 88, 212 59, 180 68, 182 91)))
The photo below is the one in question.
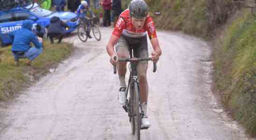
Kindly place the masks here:
POLYGON ((39 7, 36 3, 30 10, 17 7, 9 11, 1 11, 0 46, 11 43, 8 33, 20 29, 23 20, 33 20, 33 29, 36 29, 37 24, 47 28, 50 25, 50 18, 53 16, 59 17, 62 21, 68 24, 69 28, 66 29, 67 34, 78 28, 79 22, 77 14, 72 12, 52 12, 39 7))

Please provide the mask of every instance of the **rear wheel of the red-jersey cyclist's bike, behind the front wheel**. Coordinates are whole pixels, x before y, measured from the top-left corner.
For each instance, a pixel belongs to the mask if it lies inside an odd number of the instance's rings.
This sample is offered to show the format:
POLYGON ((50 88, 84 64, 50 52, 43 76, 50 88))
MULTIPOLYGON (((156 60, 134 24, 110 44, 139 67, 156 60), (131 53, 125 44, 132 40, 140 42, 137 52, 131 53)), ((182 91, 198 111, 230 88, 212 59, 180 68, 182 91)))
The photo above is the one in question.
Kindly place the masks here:
POLYGON ((134 114, 135 114, 135 111, 134 111, 134 103, 135 103, 135 98, 134 98, 134 88, 133 88, 133 85, 130 84, 130 107, 131 107, 131 116, 130 116, 130 119, 131 119, 131 128, 132 128, 132 134, 134 135, 135 134, 135 117, 134 117, 134 114))

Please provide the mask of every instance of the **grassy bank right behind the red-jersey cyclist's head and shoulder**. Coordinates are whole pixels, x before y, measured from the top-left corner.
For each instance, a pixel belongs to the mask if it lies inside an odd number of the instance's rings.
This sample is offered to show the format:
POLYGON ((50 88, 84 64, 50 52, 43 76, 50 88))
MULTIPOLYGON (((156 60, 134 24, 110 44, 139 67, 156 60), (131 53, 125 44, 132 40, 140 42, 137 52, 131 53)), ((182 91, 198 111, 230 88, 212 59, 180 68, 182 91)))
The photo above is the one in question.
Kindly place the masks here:
POLYGON ((146 0, 156 27, 186 34, 207 35, 205 0, 146 0), (161 12, 160 16, 154 15, 161 12))

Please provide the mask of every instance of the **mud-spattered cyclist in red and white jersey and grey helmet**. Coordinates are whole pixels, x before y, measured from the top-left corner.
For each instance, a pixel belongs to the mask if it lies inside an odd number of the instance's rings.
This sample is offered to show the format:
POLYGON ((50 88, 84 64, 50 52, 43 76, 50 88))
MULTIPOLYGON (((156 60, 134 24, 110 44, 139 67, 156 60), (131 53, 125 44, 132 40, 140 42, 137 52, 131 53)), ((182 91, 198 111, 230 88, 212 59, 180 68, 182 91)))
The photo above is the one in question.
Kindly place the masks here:
MULTIPOLYGON (((117 20, 114 31, 107 44, 107 53, 111 57, 112 64, 117 63, 114 56, 118 58, 129 58, 130 47, 134 49, 135 57, 148 57, 147 33, 154 51, 151 53, 153 61, 158 61, 161 56, 161 49, 156 36, 156 27, 152 18, 149 16, 149 8, 143 0, 132 0, 117 20), (114 51, 114 45, 116 53, 114 51)), ((121 105, 126 102, 126 82, 125 75, 127 71, 126 62, 117 63, 117 70, 120 80, 120 90, 118 100, 121 105)), ((140 62, 137 65, 138 79, 142 96, 142 127, 149 127, 147 117, 147 100, 149 86, 147 82, 148 62, 140 62)))

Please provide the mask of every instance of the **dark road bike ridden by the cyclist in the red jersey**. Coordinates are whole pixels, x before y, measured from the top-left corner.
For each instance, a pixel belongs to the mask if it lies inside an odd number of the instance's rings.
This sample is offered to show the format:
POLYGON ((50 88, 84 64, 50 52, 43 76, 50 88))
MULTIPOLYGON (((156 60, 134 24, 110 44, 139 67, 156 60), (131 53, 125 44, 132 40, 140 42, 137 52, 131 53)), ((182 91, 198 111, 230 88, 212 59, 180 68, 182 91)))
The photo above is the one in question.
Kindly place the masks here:
MULTIPOLYGON (((117 62, 130 62, 130 78, 128 82, 128 89, 126 91, 126 103, 123 105, 125 112, 128 112, 129 121, 131 123, 132 134, 135 135, 137 140, 140 140, 140 131, 143 129, 148 129, 148 127, 142 127, 142 116, 144 112, 142 111, 142 97, 140 94, 140 84, 137 75, 137 63, 140 61, 152 61, 152 58, 135 58, 130 50, 130 58, 119 58, 117 62)), ((116 60, 116 57, 114 58, 116 60)), ((156 72, 156 63, 154 62, 154 70, 156 72)), ((116 65, 114 65, 114 74, 116 74, 116 65)))

